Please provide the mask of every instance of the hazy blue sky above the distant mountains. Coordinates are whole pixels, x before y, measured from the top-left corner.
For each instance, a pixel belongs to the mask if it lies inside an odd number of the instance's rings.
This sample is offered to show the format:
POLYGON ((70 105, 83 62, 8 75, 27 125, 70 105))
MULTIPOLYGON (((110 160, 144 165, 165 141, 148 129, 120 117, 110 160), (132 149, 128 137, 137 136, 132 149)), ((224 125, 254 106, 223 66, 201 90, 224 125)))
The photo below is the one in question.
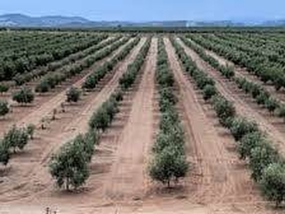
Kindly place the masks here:
POLYGON ((0 0, 0 14, 84 16, 94 21, 279 19, 284 0, 0 0))

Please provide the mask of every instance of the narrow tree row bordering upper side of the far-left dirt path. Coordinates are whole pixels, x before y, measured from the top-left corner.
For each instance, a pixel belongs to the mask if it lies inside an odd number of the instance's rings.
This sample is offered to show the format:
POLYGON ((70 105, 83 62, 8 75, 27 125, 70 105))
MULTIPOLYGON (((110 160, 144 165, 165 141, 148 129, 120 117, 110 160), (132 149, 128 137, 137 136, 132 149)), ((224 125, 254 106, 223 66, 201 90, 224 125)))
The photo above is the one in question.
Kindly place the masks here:
POLYGON ((116 41, 111 46, 108 46, 106 49, 102 51, 96 52, 95 54, 84 58, 83 61, 74 63, 72 66, 69 66, 67 69, 63 68, 61 71, 48 73, 46 76, 41 78, 40 83, 36 86, 36 92, 38 93, 46 93, 51 90, 51 88, 55 88, 58 84, 63 81, 66 81, 67 78, 71 78, 72 76, 76 76, 78 73, 81 73, 86 68, 90 68, 96 61, 99 61, 106 56, 110 55, 118 49, 120 46, 128 42, 128 38, 124 38, 120 41, 116 41))

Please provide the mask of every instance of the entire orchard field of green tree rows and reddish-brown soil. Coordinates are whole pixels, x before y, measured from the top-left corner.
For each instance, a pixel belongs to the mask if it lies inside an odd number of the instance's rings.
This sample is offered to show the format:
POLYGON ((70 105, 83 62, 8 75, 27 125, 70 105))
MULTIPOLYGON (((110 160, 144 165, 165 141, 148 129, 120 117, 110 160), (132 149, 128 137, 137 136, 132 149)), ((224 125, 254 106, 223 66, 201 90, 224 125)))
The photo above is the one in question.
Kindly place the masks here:
POLYGON ((169 33, 0 31, 0 213, 285 212, 284 33, 169 33))

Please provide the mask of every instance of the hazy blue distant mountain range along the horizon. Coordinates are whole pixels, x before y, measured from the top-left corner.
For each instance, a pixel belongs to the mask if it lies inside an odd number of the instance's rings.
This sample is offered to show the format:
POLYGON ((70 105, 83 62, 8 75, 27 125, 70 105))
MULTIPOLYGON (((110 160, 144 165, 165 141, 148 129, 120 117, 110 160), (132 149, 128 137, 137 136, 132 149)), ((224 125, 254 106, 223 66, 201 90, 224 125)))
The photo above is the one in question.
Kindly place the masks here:
POLYGON ((285 26, 285 19, 268 21, 90 21, 79 16, 41 16, 5 14, 0 16, 0 26, 14 27, 115 27, 115 26, 285 26))

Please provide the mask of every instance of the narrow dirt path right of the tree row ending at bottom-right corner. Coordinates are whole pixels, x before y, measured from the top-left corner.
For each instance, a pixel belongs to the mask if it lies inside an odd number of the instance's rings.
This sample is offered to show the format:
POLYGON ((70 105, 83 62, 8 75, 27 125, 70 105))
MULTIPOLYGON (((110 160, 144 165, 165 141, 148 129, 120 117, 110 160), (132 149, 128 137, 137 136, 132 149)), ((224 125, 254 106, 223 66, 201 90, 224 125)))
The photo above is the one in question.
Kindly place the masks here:
POLYGON ((177 41, 182 45, 186 53, 191 56, 193 61, 197 63, 197 66, 209 73, 209 75, 214 78, 216 81, 217 89, 225 98, 227 98, 227 100, 234 103, 234 106, 237 109, 237 113, 240 116, 245 116, 246 118, 256 121, 259 124, 261 130, 269 135, 273 141, 272 143, 278 147, 279 151, 285 154, 285 133, 281 132, 279 128, 276 128, 276 126, 274 126, 274 123, 271 121, 272 117, 265 117, 262 115, 258 111, 258 106, 256 105, 254 107, 252 105, 253 103, 249 103, 249 100, 244 97, 244 93, 242 93, 234 83, 223 78, 217 70, 203 61, 202 58, 200 58, 198 54, 195 53, 195 51, 185 46, 185 44, 183 44, 180 39, 177 39, 177 41))

